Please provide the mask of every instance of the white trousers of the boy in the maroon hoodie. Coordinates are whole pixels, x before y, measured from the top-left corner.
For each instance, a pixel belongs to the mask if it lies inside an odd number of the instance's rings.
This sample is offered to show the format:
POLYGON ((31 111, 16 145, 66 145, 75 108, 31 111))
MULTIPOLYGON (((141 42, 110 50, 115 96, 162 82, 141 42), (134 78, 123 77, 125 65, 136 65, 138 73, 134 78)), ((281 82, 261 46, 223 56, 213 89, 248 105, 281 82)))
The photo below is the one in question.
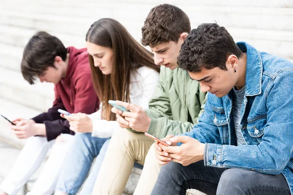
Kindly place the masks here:
POLYGON ((0 189, 4 190, 8 195, 16 195, 28 181, 29 177, 38 170, 48 150, 53 146, 51 155, 41 175, 35 182, 32 191, 27 195, 53 194, 63 166, 63 161, 73 141, 72 135, 62 134, 62 137, 65 139, 65 142, 55 143, 55 140, 47 141, 46 137, 28 138, 11 173, 4 179, 0 185, 0 189))

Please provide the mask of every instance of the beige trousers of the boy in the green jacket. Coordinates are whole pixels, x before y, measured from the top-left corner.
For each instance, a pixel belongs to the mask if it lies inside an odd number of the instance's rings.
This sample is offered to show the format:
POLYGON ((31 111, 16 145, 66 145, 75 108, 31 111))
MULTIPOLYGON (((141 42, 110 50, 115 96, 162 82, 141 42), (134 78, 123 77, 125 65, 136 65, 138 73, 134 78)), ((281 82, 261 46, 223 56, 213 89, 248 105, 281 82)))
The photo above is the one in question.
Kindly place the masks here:
POLYGON ((154 140, 143 133, 132 133, 127 129, 116 131, 108 145, 92 195, 121 195, 134 162, 144 165, 135 194, 150 195, 160 171, 151 146, 153 143, 154 140))

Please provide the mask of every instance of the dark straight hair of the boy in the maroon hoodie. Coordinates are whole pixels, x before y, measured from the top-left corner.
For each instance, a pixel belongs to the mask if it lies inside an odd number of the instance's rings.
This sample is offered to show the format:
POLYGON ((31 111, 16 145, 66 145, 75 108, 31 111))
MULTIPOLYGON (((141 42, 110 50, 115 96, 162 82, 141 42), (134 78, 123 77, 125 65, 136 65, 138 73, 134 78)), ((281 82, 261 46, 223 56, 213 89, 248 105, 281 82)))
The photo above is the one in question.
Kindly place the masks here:
POLYGON ((48 67, 54 67, 56 56, 66 60, 67 49, 60 39, 49 33, 37 32, 26 44, 22 60, 21 73, 25 80, 34 84, 37 77, 41 76, 48 67))

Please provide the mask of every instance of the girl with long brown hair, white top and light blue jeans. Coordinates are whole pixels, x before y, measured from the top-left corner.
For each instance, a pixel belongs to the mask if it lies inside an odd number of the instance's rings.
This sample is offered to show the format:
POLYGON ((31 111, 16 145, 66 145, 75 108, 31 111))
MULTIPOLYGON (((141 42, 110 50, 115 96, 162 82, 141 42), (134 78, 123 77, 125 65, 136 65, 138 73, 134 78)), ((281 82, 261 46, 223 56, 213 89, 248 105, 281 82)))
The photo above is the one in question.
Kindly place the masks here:
POLYGON ((91 194, 110 137, 120 129, 108 100, 131 102, 147 109, 159 80, 159 67, 154 64, 152 53, 116 20, 93 23, 86 34, 86 48, 100 109, 92 115, 63 116, 70 121, 70 129, 79 134, 64 162, 55 195, 76 194, 97 157, 80 193, 91 194))

